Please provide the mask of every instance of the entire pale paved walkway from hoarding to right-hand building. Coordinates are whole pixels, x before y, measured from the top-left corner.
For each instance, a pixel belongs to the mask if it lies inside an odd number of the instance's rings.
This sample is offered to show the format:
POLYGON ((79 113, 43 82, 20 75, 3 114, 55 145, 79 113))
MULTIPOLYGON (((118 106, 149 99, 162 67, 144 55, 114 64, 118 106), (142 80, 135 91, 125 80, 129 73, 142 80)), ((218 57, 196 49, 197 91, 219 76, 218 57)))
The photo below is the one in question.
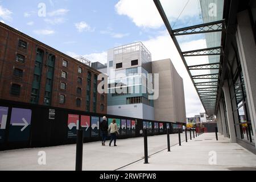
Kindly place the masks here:
MULTIPOLYGON (((189 133, 188 133, 189 138, 189 133)), ((84 170, 233 170, 256 169, 256 155, 228 138, 214 133, 203 134, 178 143, 177 134, 171 135, 171 152, 167 152, 166 135, 148 137, 149 164, 143 164, 143 138, 118 140, 118 147, 101 146, 100 142, 84 144, 84 170), (163 150, 163 151, 161 151, 163 150), (160 152, 159 152, 160 151, 160 152), (208 155, 215 151, 217 164, 210 165, 208 155), (157 153, 156 153, 157 152, 157 153), (155 154, 156 153, 156 154, 155 154), (152 155, 154 154, 154 155, 152 155), (138 161, 139 160, 139 161, 138 161), (138 162, 136 162, 138 161, 138 162), (132 164, 130 164, 132 163, 132 164), (127 164, 130 164, 126 166, 127 164), (125 166, 125 167, 124 167, 125 166)), ((76 145, 25 148, 0 151, 0 170, 74 170, 76 145), (46 152, 46 165, 38 164, 38 152, 46 152)))

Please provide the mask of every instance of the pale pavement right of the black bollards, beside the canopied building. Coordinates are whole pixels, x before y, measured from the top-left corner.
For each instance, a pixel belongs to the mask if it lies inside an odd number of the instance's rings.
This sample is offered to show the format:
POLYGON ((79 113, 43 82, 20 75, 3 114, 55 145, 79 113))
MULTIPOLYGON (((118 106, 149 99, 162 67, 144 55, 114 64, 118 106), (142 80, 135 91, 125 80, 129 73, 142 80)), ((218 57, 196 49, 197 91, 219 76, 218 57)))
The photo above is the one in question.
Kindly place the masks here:
POLYGON ((174 146, 171 152, 162 151, 151 156, 150 164, 134 163, 122 170, 253 170, 256 171, 256 155, 229 138, 205 133, 196 139, 174 146), (213 157, 216 156, 216 160, 213 157), (210 163, 209 163, 210 161, 210 163), (216 162, 216 163, 215 163, 216 162))

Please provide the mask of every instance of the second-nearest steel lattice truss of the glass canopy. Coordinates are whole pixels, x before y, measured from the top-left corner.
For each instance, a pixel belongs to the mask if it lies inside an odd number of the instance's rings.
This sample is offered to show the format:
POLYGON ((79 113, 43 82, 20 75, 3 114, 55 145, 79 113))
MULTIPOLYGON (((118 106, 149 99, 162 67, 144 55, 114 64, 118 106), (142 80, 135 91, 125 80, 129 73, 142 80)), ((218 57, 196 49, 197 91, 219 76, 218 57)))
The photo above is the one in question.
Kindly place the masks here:
POLYGON ((211 47, 182 52, 183 56, 212 56, 222 55, 222 47, 211 47))

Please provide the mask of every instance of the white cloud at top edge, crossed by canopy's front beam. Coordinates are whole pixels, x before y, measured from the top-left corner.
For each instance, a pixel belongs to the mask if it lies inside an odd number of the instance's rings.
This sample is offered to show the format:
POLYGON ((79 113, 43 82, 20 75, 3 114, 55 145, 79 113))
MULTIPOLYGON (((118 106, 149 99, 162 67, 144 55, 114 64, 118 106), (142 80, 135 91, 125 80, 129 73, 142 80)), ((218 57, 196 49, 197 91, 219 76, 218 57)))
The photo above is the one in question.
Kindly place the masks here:
MULTIPOLYGON (((200 13, 198 0, 190 0, 185 6, 187 2, 187 0, 162 0, 161 4, 168 19, 176 20, 179 16, 182 19, 185 16, 200 13), (185 9, 182 11, 184 7, 185 9)), ((115 10, 119 15, 128 16, 138 27, 159 28, 164 24, 153 1, 120 0, 115 5, 115 10)))

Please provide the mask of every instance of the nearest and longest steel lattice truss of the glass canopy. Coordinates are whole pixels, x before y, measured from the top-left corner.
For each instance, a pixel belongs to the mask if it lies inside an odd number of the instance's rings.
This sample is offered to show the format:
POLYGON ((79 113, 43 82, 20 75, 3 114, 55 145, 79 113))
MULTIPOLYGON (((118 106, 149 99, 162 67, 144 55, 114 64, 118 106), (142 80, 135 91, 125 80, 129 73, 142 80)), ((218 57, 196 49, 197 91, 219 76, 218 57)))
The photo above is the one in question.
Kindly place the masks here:
POLYGON ((224 30, 224 20, 173 30, 174 35, 202 34, 224 30))

